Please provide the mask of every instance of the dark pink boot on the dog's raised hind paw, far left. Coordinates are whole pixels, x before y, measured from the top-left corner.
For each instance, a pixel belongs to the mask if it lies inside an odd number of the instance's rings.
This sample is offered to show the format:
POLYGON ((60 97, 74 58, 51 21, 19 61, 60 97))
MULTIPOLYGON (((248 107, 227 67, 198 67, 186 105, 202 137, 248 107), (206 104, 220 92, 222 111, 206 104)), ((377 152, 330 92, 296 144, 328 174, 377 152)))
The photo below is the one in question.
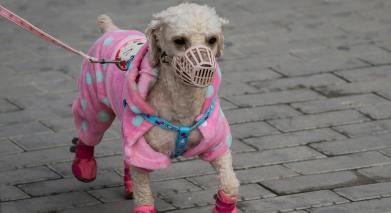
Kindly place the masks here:
POLYGON ((76 146, 70 151, 76 156, 72 164, 73 175, 82 182, 94 181, 97 177, 97 161, 94 159, 94 147, 85 145, 80 139, 72 140, 76 146))

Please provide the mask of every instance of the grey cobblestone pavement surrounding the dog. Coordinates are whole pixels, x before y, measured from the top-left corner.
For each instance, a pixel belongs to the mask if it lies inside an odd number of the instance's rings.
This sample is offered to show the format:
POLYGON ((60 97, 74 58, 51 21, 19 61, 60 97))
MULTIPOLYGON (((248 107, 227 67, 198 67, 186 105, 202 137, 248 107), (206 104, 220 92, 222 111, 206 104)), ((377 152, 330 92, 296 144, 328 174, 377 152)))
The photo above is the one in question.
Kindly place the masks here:
MULTIPOLYGON (((196 0, 230 19, 220 89, 242 182, 239 213, 391 213, 391 1, 196 0)), ((107 13, 144 31, 176 0, 1 0, 76 49, 107 13)), ((98 178, 71 174, 81 58, 0 19, 1 213, 130 213, 118 121, 98 178)), ((210 213, 212 167, 179 159, 151 174, 156 208, 210 213)))

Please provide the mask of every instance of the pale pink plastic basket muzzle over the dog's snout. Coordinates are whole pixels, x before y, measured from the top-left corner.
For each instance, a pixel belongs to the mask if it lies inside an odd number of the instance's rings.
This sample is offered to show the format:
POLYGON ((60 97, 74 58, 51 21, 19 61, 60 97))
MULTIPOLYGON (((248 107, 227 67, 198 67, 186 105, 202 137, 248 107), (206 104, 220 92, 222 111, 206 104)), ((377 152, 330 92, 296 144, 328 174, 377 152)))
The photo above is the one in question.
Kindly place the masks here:
POLYGON ((204 88, 212 84, 216 74, 216 58, 210 48, 193 46, 183 56, 174 56, 171 65, 186 85, 204 88))

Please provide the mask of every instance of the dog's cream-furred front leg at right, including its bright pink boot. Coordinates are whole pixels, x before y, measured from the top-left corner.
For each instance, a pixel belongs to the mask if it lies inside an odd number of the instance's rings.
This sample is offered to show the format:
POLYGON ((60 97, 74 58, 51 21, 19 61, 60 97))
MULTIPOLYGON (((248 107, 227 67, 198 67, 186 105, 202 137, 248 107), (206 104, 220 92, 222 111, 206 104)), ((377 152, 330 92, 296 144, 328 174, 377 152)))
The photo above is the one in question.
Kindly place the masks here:
POLYGON ((219 191, 216 196, 216 206, 213 213, 237 213, 239 181, 232 167, 231 152, 211 161, 219 180, 219 191))

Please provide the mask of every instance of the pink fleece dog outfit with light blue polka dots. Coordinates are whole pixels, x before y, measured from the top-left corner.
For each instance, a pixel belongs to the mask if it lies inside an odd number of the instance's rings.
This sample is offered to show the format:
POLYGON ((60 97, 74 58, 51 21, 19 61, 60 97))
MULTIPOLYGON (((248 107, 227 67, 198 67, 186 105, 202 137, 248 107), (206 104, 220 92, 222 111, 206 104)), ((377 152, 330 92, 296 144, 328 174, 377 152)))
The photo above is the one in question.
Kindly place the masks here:
MULTIPOLYGON (((146 38, 138 31, 110 31, 98 39, 89 55, 112 59, 121 47, 140 39, 146 38)), ((127 72, 119 70, 115 64, 92 64, 84 60, 79 79, 80 97, 73 103, 72 110, 79 137, 89 146, 100 142, 104 131, 117 116, 122 126, 124 160, 134 167, 151 171, 167 168, 171 159, 148 146, 143 135, 153 124, 138 115, 140 112, 156 115, 156 110, 145 101, 158 75, 157 67, 149 66, 147 51, 148 45, 145 44, 127 72), (127 102, 125 108, 124 98, 127 102)), ((198 146, 183 153, 184 157, 199 155, 202 160, 211 161, 226 153, 232 143, 230 128, 217 97, 221 82, 219 68, 217 72, 207 89, 202 113, 195 120, 202 117, 213 98, 216 98, 212 115, 198 127, 204 138, 198 146)))

